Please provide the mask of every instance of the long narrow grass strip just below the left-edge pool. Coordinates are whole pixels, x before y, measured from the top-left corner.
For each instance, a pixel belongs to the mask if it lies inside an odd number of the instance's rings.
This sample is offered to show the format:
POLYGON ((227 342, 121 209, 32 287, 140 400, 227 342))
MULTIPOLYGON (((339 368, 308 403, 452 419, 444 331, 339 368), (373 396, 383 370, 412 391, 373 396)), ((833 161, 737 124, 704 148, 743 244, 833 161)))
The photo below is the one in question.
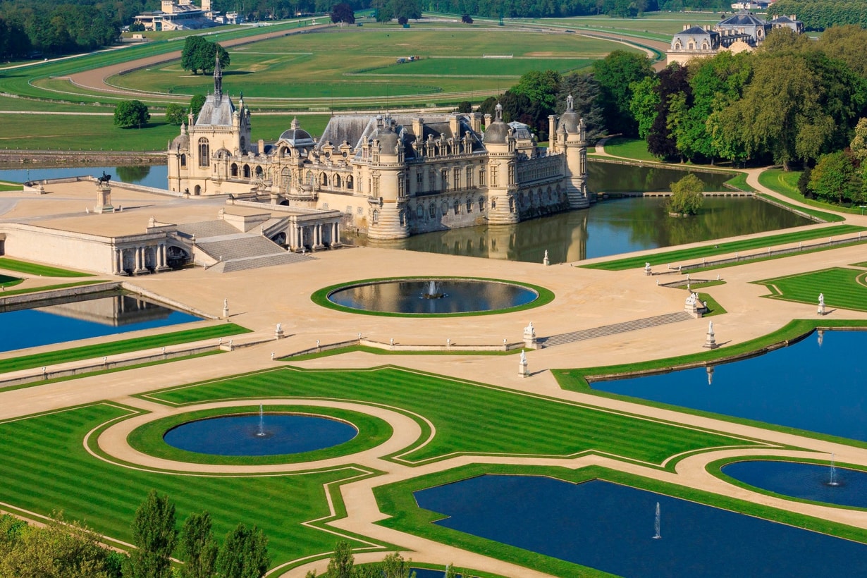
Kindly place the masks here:
POLYGON ((217 339, 218 337, 227 337, 229 335, 249 332, 250 329, 242 328, 234 323, 215 323, 214 325, 204 328, 186 329, 185 331, 175 331, 173 333, 148 335, 147 337, 137 337, 121 341, 108 341, 108 343, 98 343, 96 345, 86 345, 82 347, 71 347, 69 349, 61 349, 59 351, 52 351, 45 354, 29 354, 21 355, 19 357, 11 357, 9 359, 0 360, 0 373, 30 369, 31 367, 55 365, 58 363, 66 363, 68 361, 89 360, 110 355, 126 354, 131 351, 140 351, 152 347, 165 347, 169 345, 177 345, 178 343, 217 339))

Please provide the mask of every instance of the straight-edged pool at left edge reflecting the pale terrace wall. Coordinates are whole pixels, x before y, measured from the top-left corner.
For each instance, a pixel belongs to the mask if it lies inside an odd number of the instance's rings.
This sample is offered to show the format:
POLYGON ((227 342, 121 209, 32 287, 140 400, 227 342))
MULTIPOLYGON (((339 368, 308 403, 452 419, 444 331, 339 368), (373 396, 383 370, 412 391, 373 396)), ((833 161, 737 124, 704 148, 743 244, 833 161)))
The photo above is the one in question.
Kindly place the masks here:
POLYGON ((139 295, 95 294, 0 308, 0 351, 199 321, 139 295))

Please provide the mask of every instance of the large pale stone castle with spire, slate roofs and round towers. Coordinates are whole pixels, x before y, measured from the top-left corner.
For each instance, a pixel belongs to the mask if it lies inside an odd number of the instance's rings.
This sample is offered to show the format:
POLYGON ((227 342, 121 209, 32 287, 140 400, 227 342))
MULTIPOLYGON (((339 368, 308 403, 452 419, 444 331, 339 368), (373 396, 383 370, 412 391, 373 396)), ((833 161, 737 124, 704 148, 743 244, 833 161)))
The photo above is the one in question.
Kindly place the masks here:
MULTIPOLYGON (((552 116, 551 143, 475 114, 360 115, 329 120, 314 139, 293 120, 274 143, 251 141, 250 109, 214 92, 168 147, 168 186, 275 205, 342 212, 342 226, 398 239, 479 224, 514 224, 589 205, 583 120, 552 116)), ((287 239, 292 249, 306 244, 287 239)))

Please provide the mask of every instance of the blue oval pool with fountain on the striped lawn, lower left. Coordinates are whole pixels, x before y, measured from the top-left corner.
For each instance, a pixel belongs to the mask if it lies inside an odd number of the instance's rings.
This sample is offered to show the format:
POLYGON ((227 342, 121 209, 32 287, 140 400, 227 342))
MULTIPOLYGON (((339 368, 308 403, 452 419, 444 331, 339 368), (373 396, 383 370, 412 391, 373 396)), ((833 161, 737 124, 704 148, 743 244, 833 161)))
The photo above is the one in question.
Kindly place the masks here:
POLYGON ((323 450, 355 438, 358 430, 337 419, 297 413, 225 415, 173 427, 163 440, 179 450, 218 456, 276 456, 323 450))

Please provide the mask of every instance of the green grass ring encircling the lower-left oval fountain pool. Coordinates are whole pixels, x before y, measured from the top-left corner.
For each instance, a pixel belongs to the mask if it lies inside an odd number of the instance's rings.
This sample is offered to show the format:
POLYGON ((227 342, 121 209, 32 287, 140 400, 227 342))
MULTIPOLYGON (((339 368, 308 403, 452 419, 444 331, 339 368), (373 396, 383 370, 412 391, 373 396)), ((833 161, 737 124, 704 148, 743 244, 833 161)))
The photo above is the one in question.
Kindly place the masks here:
POLYGON ((176 425, 196 419, 214 418, 225 415, 257 414, 258 406, 220 407, 197 412, 185 412, 173 415, 169 418, 156 419, 145 425, 141 425, 129 434, 127 442, 134 450, 147 453, 150 456, 163 459, 172 459, 179 462, 192 464, 300 464, 319 459, 336 458, 346 456, 359 451, 368 450, 388 440, 394 431, 387 422, 372 415, 362 412, 352 412, 336 407, 322 406, 263 406, 266 414, 294 413, 303 415, 316 415, 327 418, 339 419, 355 425, 358 435, 343 444, 316 451, 303 451, 273 456, 218 456, 196 451, 180 450, 166 444, 163 435, 176 425))

